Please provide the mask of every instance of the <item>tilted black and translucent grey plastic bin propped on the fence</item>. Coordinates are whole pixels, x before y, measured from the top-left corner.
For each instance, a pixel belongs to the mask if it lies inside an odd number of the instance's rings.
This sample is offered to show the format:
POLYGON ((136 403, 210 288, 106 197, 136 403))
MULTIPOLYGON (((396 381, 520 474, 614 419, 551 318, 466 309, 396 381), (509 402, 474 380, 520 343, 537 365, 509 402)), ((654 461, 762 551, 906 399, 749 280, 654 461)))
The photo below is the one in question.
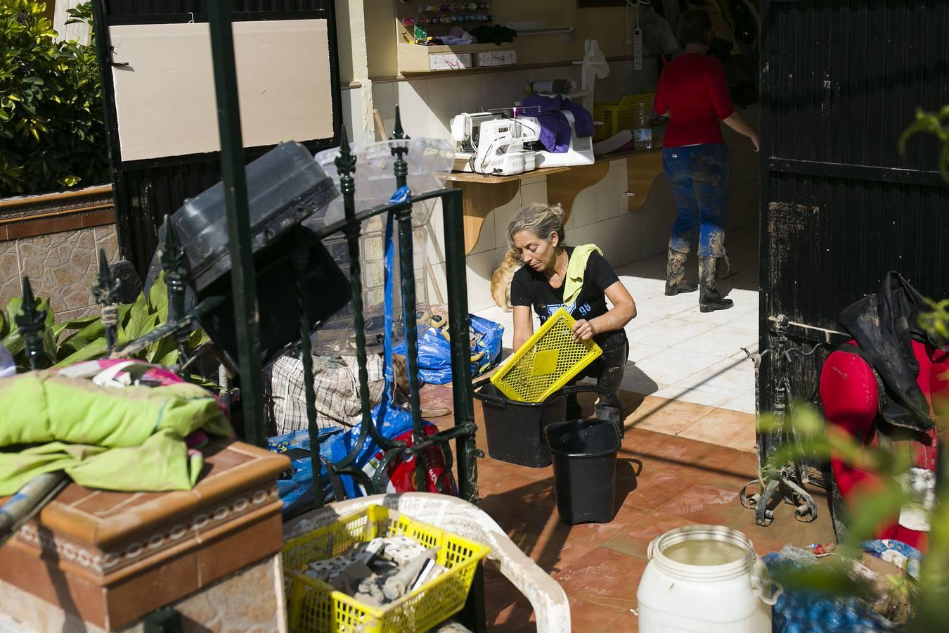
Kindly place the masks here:
MULTIPOLYGON (((260 348, 264 363, 300 339, 298 285, 306 290, 303 308, 312 331, 322 326, 352 296, 349 280, 313 232, 301 226, 314 214, 326 213, 340 195, 309 150, 297 142, 283 142, 245 169, 251 251, 260 307, 260 348), (301 244, 305 261, 298 266, 292 254, 301 244)), ((233 367, 237 363, 237 330, 231 288, 231 250, 223 182, 184 201, 168 219, 184 249, 189 289, 185 311, 200 301, 221 297, 223 303, 198 316, 215 346, 233 367)), ((158 251, 152 261, 145 291, 158 275, 166 226, 158 229, 158 251)))

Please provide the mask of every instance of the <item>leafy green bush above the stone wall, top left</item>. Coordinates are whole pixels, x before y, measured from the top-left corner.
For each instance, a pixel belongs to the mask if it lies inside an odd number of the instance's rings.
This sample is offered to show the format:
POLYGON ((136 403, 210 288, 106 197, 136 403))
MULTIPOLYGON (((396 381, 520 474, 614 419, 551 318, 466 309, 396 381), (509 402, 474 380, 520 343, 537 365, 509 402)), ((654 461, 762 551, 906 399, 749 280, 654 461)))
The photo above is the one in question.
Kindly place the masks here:
MULTIPOLYGON (((45 8, 0 0, 0 196, 109 180, 95 33, 56 42, 45 8)), ((70 14, 91 25, 88 3, 70 14)))

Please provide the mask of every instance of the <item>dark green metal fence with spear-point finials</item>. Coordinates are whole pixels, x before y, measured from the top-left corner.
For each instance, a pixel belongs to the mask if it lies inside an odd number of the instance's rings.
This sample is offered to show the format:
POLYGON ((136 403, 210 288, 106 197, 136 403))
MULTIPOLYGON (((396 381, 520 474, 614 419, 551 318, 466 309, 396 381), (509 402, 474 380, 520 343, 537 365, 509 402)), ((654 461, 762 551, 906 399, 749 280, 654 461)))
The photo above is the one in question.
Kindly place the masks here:
MULTIPOLYGON (((217 97, 218 124, 221 138, 221 164, 224 176, 225 199, 228 213, 228 231, 232 254, 232 298, 234 323, 238 343, 239 401, 244 419, 245 439, 253 444, 264 445, 267 431, 264 420, 263 370, 261 366, 259 314, 267 306, 258 306, 256 280, 259 270, 255 270, 251 251, 251 231, 248 215, 247 185, 245 180, 245 159, 240 132, 240 110, 237 99, 237 80, 234 67, 233 33, 230 21, 230 3, 209 3, 212 52, 214 56, 214 86, 217 97)), ((472 376, 470 348, 468 345, 468 295, 465 272, 464 230, 462 224, 461 192, 442 189, 424 195, 411 196, 399 202, 391 202, 373 209, 356 213, 355 191, 358 165, 355 155, 350 151, 345 128, 341 134, 340 157, 336 165, 341 176, 341 193, 344 196, 344 219, 326 226, 311 236, 300 238, 290 251, 282 253, 278 262, 292 261, 296 270, 307 266, 307 251, 314 241, 323 240, 330 235, 343 233, 349 253, 350 285, 352 291, 353 326, 356 331, 357 362, 359 366, 362 405, 362 424, 360 435, 352 450, 343 459, 325 463, 328 472, 336 475, 350 475, 359 482, 367 493, 380 491, 381 477, 385 475, 386 465, 398 456, 414 456, 416 468, 415 483, 419 491, 428 490, 428 478, 425 474, 425 453, 433 447, 446 447, 455 440, 457 461, 458 492, 461 498, 477 500, 476 458, 481 455, 474 441, 474 404, 472 397, 472 376), (439 199, 442 204, 445 228, 445 251, 448 282, 449 335, 452 354, 453 398, 455 424, 453 427, 434 435, 426 435, 423 430, 419 405, 419 366, 416 322, 416 287, 412 245, 412 205, 424 200, 439 199), (366 371, 366 350, 363 332, 363 285, 360 267, 360 230, 363 222, 377 215, 394 214, 398 221, 398 248, 400 258, 400 285, 402 325, 406 339, 406 361, 409 378, 409 402, 413 420, 413 442, 411 446, 404 441, 384 438, 370 414, 368 374, 366 371), (354 465, 366 442, 372 439, 381 447, 383 457, 374 476, 366 475, 354 465)), ((405 154, 409 151, 408 137, 402 132, 399 112, 396 112, 396 127, 392 138, 394 155, 394 173, 397 188, 404 187, 408 174, 405 154), (399 142, 405 141, 405 142, 399 142)), ((116 318, 116 282, 109 271, 104 252, 100 251, 100 267, 96 286, 93 289, 97 301, 102 307, 102 326, 106 336, 106 355, 112 358, 128 358, 147 348, 156 341, 172 337, 179 351, 177 371, 185 375, 194 361, 188 356, 187 341, 189 334, 197 325, 198 319, 209 313, 214 307, 225 301, 223 296, 202 299, 194 308, 185 311, 185 286, 187 270, 184 250, 177 240, 171 222, 165 223, 165 241, 161 245, 160 264, 165 273, 168 289, 169 318, 146 336, 129 343, 119 344, 116 318)), ((303 280, 303 275, 298 275, 303 280)), ((311 439, 314 493, 316 505, 323 503, 324 490, 321 468, 319 468, 319 433, 316 424, 315 394, 313 390, 313 365, 310 348, 310 323, 305 309, 307 295, 319 292, 318 288, 307 288, 303 281, 298 282, 297 307, 300 319, 300 346, 306 385, 307 420, 311 439)), ((46 315, 35 306, 28 278, 23 280, 23 308, 16 318, 21 334, 25 338, 29 366, 39 369, 45 366, 44 338, 48 337, 46 315)), ((450 450, 445 451, 451 456, 450 450)), ((449 463, 451 466, 451 463, 449 463)))

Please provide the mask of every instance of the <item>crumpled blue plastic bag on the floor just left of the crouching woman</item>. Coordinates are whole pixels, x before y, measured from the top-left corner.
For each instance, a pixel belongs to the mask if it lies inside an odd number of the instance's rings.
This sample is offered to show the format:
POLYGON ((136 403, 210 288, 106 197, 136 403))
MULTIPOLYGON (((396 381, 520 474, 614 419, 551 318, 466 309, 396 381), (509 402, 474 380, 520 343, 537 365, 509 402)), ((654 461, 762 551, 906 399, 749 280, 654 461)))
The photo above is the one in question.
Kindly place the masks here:
MULTIPOLYGON (((483 356, 472 363, 472 377, 475 377, 488 371, 501 360, 504 326, 474 314, 468 315, 468 323, 474 330, 472 356, 484 352, 483 356)), ((405 343, 399 344, 395 351, 405 354, 405 343)), ((419 334, 419 378, 429 384, 452 382, 452 347, 441 330, 435 327, 426 327, 419 334)))

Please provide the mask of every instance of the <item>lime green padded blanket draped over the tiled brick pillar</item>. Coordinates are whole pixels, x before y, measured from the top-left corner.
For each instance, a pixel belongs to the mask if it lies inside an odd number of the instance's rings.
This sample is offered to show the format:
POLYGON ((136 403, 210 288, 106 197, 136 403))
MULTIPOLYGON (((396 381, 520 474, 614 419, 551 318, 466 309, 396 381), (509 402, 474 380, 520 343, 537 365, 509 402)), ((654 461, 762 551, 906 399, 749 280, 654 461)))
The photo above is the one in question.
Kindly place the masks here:
POLYGON ((189 490, 203 459, 185 441, 198 429, 232 437, 217 400, 181 382, 100 387, 55 370, 0 380, 0 495, 65 471, 87 488, 189 490))

